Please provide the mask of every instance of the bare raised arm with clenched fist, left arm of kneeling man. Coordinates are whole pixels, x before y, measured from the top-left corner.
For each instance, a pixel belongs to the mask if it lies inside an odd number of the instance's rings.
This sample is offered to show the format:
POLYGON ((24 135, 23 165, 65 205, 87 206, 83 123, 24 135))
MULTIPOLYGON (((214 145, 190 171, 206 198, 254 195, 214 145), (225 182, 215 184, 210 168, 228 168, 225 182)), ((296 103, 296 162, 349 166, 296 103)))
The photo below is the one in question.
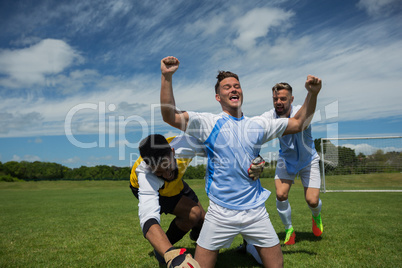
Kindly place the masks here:
POLYGON ((178 111, 173 95, 172 78, 179 68, 179 60, 169 56, 161 60, 161 113, 163 121, 185 131, 188 123, 188 113, 178 111))

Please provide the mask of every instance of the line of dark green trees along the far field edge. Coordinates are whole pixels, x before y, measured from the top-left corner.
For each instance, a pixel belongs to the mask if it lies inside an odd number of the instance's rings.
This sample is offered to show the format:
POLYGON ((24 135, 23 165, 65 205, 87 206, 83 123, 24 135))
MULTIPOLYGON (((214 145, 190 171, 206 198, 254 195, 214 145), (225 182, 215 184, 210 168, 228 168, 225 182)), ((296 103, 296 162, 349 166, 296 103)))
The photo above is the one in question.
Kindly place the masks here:
MULTIPOLYGON (((315 148, 321 154, 321 139, 315 139, 315 148)), ((337 152, 336 161, 324 159, 325 174, 367 174, 383 172, 402 172, 402 153, 378 150, 372 155, 364 155, 348 147, 335 146, 329 141, 324 146, 327 153, 330 150, 337 152), (335 163, 336 162, 336 163, 335 163)), ((321 163, 320 163, 321 167, 321 163)), ((275 176, 276 160, 267 162, 261 178, 275 176)), ((183 179, 203 179, 205 165, 189 166, 183 179)), ((58 163, 10 161, 0 162, 0 181, 39 181, 39 180, 129 180, 131 167, 116 167, 98 165, 94 167, 81 166, 68 168, 58 163)))

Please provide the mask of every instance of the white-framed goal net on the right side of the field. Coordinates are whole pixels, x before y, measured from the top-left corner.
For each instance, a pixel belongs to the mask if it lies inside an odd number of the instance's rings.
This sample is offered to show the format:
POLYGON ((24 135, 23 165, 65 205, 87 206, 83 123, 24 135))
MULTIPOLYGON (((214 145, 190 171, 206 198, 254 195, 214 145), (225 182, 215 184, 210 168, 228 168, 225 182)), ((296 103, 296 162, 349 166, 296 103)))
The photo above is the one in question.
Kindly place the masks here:
POLYGON ((402 137, 322 138, 322 192, 402 192, 402 137))

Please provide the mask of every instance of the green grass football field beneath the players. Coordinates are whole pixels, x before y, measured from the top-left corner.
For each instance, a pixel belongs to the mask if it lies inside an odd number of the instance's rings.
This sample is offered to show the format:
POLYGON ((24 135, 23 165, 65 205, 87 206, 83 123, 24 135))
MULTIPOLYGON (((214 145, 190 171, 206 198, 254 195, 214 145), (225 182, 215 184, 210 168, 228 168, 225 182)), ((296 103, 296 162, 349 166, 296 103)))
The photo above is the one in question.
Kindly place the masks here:
MULTIPOLYGON (((190 180, 205 208, 203 180, 190 180)), ((266 206, 283 243, 273 194, 266 206)), ((379 182, 381 184, 381 182, 379 182)), ((326 193, 324 234, 311 232, 300 181, 289 200, 296 244, 282 246, 285 267, 401 267, 402 193, 326 193)), ((0 267, 158 267, 142 236, 138 201, 125 181, 0 183, 0 267)), ((171 216, 162 216, 166 230, 171 216)), ((235 248, 221 250, 216 267, 260 267, 235 248)), ((194 253, 185 236, 177 243, 194 253)))

